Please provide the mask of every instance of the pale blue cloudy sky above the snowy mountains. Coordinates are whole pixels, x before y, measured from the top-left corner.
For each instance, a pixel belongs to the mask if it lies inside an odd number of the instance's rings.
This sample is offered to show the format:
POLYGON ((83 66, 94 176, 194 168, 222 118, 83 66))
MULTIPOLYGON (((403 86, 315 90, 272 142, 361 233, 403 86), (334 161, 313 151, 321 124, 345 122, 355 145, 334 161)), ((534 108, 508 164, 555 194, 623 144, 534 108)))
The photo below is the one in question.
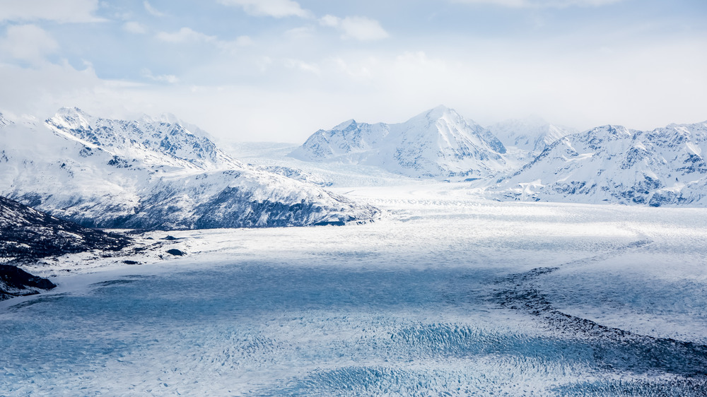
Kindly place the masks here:
POLYGON ((291 143, 438 105, 653 129, 707 119, 705 20, 704 0, 0 0, 0 112, 291 143))

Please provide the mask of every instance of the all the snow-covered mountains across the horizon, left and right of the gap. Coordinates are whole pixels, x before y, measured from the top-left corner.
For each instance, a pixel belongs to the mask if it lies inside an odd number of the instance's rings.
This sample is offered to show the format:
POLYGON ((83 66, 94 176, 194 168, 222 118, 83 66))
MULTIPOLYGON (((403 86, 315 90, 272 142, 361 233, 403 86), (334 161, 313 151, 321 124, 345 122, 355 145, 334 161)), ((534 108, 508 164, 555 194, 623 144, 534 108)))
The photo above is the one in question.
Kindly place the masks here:
MULTIPOLYGON (((484 128, 440 106, 398 124, 351 119, 289 156, 470 182, 501 200, 704 206, 706 131, 707 122, 577 132, 532 118, 484 128)), ((316 172, 236 160, 172 115, 0 114, 0 170, 0 194, 87 227, 343 225, 380 213, 322 189, 331 182, 316 172)))

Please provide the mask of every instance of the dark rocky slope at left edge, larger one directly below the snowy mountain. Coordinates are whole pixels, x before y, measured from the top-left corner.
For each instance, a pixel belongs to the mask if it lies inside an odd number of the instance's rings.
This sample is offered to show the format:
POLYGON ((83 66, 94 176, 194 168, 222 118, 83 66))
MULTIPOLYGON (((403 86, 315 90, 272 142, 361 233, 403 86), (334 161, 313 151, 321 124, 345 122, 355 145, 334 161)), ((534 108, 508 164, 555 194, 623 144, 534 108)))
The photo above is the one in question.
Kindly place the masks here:
POLYGON ((119 250, 128 237, 54 218, 0 196, 0 258, 33 259, 91 249, 119 250))

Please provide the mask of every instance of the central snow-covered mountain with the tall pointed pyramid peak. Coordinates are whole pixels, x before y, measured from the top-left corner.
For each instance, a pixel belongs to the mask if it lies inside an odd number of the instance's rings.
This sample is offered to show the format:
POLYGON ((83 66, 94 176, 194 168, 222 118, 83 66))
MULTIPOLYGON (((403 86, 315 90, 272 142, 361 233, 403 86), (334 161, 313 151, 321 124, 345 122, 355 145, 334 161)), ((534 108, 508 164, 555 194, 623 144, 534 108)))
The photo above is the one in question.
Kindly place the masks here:
POLYGON ((399 124, 354 120, 320 130, 290 155, 305 161, 376 165, 410 177, 473 179, 509 170, 488 130, 440 106, 399 124))

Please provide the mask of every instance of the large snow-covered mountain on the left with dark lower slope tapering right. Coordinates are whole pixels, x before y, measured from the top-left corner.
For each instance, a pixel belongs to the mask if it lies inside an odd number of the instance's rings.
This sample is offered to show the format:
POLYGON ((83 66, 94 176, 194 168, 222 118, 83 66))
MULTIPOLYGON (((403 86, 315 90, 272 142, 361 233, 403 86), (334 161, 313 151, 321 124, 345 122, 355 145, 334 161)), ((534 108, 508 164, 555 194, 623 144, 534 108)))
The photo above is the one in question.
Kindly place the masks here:
POLYGON ((344 224, 378 210, 255 167, 174 117, 122 121, 61 109, 0 129, 0 194, 89 227, 344 224))

